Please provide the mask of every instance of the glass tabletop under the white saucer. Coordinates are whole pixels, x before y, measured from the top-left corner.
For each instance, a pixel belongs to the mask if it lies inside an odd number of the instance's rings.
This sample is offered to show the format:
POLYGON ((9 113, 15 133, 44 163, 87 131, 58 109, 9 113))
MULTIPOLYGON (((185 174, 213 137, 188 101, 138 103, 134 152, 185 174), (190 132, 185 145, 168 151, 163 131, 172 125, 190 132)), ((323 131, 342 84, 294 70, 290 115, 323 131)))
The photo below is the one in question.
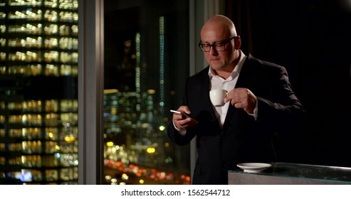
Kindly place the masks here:
MULTIPOLYGON (((319 181, 335 181, 351 183, 351 168, 338 166, 319 166, 298 163, 270 163, 272 166, 253 175, 278 176, 285 178, 301 178, 319 181)), ((241 168, 229 172, 246 173, 241 168)))

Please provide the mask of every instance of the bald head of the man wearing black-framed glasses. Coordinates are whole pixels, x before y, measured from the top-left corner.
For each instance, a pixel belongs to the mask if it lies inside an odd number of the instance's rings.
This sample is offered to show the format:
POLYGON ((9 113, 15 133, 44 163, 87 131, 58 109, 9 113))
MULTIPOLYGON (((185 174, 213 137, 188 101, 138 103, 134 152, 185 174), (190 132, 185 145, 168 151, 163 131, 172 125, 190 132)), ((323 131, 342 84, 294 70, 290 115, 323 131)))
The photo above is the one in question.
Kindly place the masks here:
POLYGON ((199 45, 214 70, 231 72, 235 68, 240 57, 241 40, 228 17, 216 15, 206 21, 201 28, 199 45))

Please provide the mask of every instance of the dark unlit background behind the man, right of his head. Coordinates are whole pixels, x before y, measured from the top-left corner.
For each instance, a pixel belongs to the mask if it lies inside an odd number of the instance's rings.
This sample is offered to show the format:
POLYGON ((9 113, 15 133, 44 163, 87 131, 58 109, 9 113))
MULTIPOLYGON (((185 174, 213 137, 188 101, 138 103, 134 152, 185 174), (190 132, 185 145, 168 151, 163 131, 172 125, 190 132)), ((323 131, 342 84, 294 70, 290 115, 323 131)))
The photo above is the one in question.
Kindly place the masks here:
POLYGON ((242 50, 285 66, 308 124, 281 136, 281 161, 351 166, 351 3, 227 0, 242 50))

